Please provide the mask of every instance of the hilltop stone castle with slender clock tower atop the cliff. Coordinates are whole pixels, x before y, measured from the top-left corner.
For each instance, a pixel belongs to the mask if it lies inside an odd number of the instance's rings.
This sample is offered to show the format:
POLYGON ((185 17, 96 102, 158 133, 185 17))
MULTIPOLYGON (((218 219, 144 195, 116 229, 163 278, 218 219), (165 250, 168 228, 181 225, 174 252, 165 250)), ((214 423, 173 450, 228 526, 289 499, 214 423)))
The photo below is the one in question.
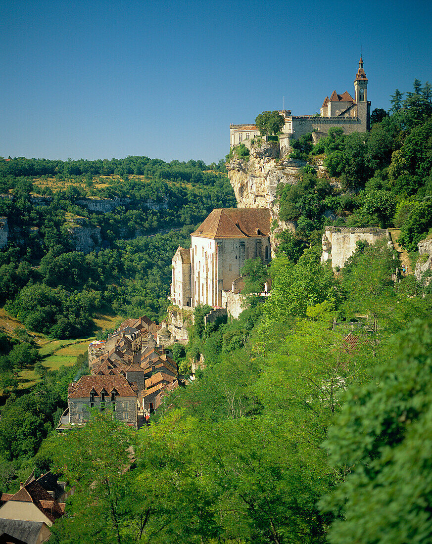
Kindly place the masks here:
MULTIPOLYGON (((289 148, 291 140, 298 140, 304 134, 312 132, 314 143, 325 136, 329 128, 342 128, 345 134, 366 132, 370 128, 371 102, 367 100, 366 73, 363 70, 363 59, 360 57, 359 70, 354 80, 354 98, 348 91, 337 94, 334 90, 325 97, 320 116, 291 115, 291 110, 281 110, 285 124, 279 136, 280 146, 289 148)), ((260 135, 259 129, 253 125, 230 125, 231 147, 244 143, 250 147, 250 140, 260 135)))

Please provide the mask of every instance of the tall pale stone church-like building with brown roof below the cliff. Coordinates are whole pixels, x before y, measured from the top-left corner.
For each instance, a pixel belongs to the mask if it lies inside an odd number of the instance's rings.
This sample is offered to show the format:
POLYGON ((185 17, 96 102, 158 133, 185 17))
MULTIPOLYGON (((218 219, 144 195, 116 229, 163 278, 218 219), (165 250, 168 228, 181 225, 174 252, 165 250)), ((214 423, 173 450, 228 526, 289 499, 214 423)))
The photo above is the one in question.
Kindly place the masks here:
POLYGON ((190 235, 190 250, 178 248, 172 259, 171 301, 181 308, 221 306, 246 259, 270 262, 269 234, 267 208, 214 209, 190 235))

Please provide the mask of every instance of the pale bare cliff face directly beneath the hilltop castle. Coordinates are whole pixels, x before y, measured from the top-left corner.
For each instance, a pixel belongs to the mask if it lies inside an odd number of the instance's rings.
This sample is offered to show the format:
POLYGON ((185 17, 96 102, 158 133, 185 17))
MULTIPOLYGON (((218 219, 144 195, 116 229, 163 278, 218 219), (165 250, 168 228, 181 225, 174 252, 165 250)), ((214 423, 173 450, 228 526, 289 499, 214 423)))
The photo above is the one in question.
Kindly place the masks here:
POLYGON ((274 256, 277 242, 275 234, 283 230, 295 231, 295 221, 279 219, 279 201, 276 189, 279 183, 294 185, 298 182, 299 170, 306 165, 304 160, 279 159, 277 142, 263 142, 252 147, 249 160, 234 157, 226 165, 228 177, 238 208, 269 208, 271 220, 276 220, 270 234, 271 255, 274 256))

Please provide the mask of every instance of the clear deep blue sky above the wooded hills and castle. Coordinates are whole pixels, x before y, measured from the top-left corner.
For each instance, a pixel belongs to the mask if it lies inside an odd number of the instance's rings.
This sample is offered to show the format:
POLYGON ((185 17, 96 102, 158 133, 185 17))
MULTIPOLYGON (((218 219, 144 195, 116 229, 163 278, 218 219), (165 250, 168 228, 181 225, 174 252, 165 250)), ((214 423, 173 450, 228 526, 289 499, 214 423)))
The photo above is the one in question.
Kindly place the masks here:
POLYGON ((217 162, 230 123, 432 83, 432 2, 3 0, 0 156, 217 162))

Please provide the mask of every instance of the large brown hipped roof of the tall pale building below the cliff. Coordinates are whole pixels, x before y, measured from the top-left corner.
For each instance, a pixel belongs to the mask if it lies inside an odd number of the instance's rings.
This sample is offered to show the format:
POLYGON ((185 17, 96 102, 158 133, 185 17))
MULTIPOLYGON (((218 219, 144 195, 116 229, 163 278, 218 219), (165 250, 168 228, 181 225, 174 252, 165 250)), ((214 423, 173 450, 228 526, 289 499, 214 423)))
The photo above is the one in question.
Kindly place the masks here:
POLYGON ((268 208, 215 208, 191 236, 249 238, 269 234, 268 208))

